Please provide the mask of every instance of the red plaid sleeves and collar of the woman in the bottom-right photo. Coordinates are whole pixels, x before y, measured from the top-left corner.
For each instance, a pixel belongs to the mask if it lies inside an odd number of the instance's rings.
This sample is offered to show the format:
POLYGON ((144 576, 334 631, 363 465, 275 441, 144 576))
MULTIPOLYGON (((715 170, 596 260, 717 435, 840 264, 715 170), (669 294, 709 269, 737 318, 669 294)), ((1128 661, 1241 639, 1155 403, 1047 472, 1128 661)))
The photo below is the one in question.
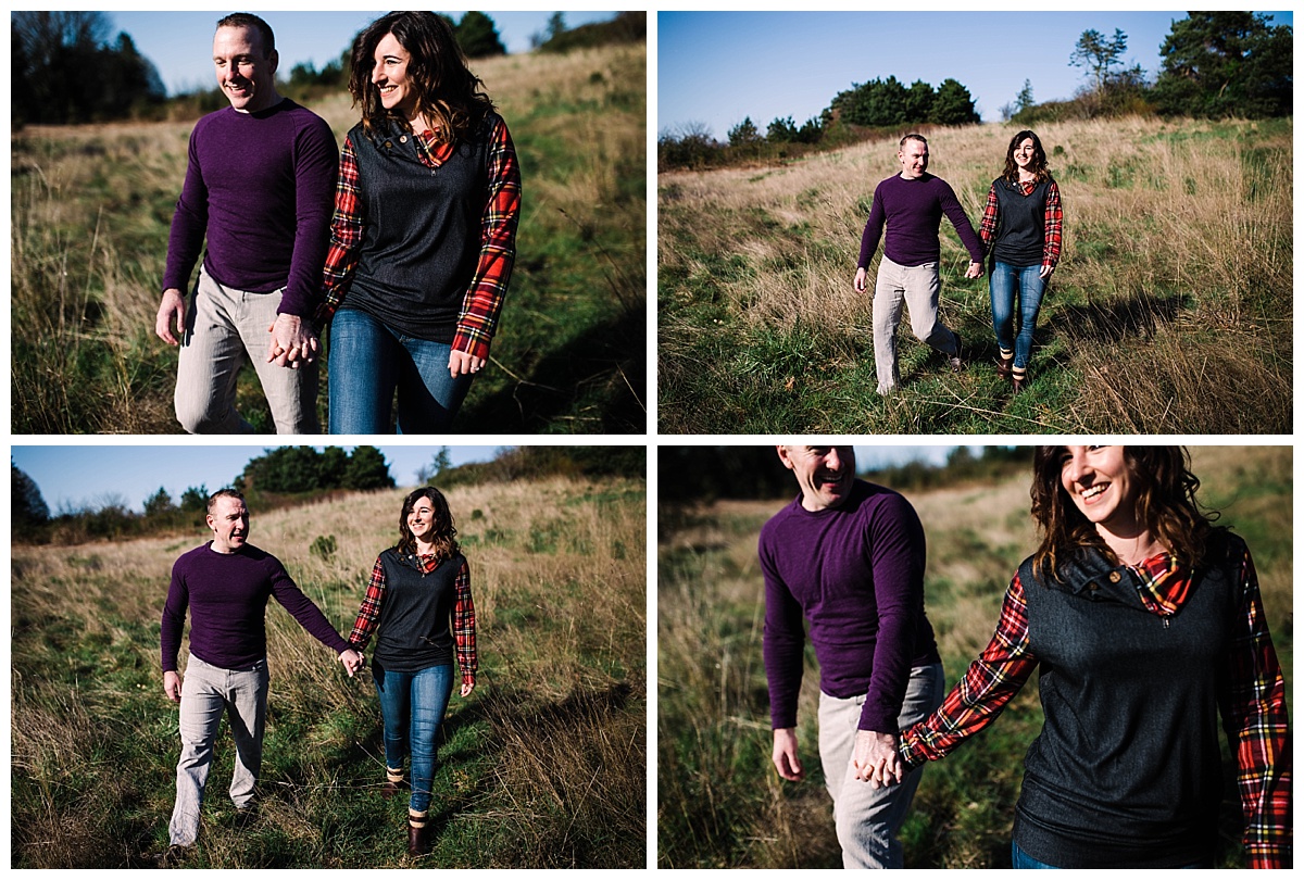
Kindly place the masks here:
MULTIPOLYGON (((1154 614, 1171 615, 1191 588, 1191 572, 1168 553, 1137 567, 1141 600, 1154 614)), ((1230 694, 1224 705, 1236 756, 1236 781, 1245 814, 1245 854, 1252 868, 1287 867, 1291 858, 1291 760, 1286 683, 1264 621, 1254 562, 1240 563, 1241 608, 1232 621, 1230 694)), ((1005 708, 1041 661, 1028 635, 1028 605, 1018 576, 1005 592, 996 632, 932 717, 901 735, 909 767, 944 757, 1005 708)))

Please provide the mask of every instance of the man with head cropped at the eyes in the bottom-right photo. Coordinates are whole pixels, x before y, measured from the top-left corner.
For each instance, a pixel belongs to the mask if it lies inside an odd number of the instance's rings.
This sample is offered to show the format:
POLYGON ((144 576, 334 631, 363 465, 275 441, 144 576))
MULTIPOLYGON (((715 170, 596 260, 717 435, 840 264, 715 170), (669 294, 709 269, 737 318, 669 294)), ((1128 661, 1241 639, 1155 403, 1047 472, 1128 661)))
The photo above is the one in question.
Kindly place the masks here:
POLYGON ((842 864, 900 868, 896 834, 919 774, 879 782, 896 767, 898 733, 928 717, 944 684, 923 613, 923 528, 900 494, 855 478, 850 446, 780 446, 778 458, 801 494, 760 531, 775 767, 789 781, 806 774, 797 744, 805 618, 842 864))

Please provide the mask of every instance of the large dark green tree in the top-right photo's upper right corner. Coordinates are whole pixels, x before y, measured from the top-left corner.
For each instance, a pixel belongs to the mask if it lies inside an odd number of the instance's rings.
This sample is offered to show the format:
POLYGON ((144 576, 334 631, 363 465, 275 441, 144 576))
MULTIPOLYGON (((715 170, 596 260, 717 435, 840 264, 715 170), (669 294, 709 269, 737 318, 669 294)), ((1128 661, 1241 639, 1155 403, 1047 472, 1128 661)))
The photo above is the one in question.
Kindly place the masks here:
POLYGON ((1192 12, 1159 48, 1159 111, 1192 116, 1284 116, 1294 103, 1292 33, 1251 12, 1192 12))

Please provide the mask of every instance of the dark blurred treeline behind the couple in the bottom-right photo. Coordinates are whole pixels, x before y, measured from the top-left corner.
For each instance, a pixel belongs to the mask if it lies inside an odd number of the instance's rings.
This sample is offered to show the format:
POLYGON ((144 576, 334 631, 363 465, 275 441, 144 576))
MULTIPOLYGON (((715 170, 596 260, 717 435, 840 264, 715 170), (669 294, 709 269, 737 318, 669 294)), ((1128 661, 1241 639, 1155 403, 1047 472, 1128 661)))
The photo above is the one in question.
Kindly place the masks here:
MULTIPOLYGON (((910 491, 1030 473, 1031 460, 1030 446, 985 446, 979 455, 957 446, 943 465, 908 462, 858 472, 872 482, 910 491)), ((773 446, 662 446, 657 473, 659 503, 668 507, 721 498, 794 498, 798 493, 773 446)))

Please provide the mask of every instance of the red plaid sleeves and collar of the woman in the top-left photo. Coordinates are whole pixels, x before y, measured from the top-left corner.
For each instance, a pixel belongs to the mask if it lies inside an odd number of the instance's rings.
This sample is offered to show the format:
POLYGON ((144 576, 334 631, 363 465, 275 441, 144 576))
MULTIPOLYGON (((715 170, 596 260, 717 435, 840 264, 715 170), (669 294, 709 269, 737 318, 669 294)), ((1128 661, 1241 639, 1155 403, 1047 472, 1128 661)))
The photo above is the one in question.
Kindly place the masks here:
MULTIPOLYGON (((475 357, 489 357, 493 339, 507 295, 507 282, 516 259, 516 226, 520 220, 520 167, 516 147, 507 124, 497 119, 489 134, 489 192, 480 218, 480 262, 467 288, 458 314, 452 348, 475 357)), ((425 132, 417 138, 421 162, 438 168, 452 155, 454 143, 436 143, 425 132)), ((335 184, 335 216, 330 224, 330 250, 322 278, 323 302, 317 313, 325 323, 348 293, 348 283, 357 269, 357 250, 363 245, 366 214, 357 192, 357 154, 351 138, 344 139, 339 156, 339 180, 335 184)))

